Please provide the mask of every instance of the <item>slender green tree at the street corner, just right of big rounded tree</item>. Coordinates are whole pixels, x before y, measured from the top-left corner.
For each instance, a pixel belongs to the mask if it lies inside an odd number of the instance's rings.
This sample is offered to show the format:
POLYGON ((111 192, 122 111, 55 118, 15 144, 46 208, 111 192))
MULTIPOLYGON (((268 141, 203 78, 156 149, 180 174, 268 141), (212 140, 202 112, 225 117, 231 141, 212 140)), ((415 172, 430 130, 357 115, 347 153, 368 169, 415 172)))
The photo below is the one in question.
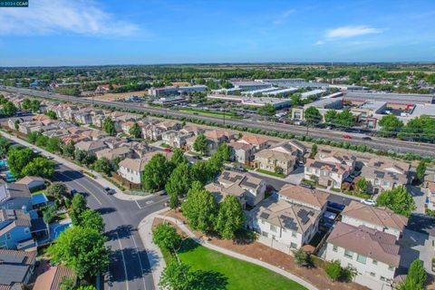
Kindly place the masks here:
POLYGON ((181 163, 172 171, 165 186, 166 192, 169 195, 170 208, 179 207, 179 198, 186 196, 191 181, 189 163, 181 163))

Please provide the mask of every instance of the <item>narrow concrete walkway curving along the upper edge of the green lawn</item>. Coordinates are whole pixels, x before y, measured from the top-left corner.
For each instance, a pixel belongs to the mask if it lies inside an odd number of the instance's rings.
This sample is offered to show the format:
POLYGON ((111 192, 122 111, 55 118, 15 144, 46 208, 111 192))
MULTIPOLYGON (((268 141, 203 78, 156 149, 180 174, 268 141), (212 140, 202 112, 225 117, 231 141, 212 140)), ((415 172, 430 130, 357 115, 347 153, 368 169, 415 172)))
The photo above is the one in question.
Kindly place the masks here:
MULTIPOLYGON (((147 217, 147 218, 149 218, 149 217, 147 217)), ((147 219, 147 218, 145 218, 145 219, 147 219)), ((275 273, 277 273, 279 275, 284 275, 286 278, 288 278, 290 280, 293 280, 296 283, 299 283, 300 285, 303 285, 304 287, 306 287, 309 290, 318 290, 314 285, 311 285, 310 283, 304 281, 300 277, 298 277, 296 275, 293 275, 293 274, 291 274, 291 273, 289 273, 289 272, 287 272, 287 271, 285 271, 285 270, 283 270, 283 269, 281 269, 281 268, 279 268, 277 266, 273 266, 273 265, 267 264, 266 262, 257 260, 257 259, 255 259, 253 257, 250 257, 250 256, 245 256, 245 255, 239 254, 237 252, 230 251, 230 250, 228 250, 226 248, 223 248, 223 247, 215 246, 215 245, 213 245, 211 243, 208 243, 208 241, 203 240, 202 238, 196 237, 195 234, 193 234, 193 232, 189 229, 189 227, 186 227, 184 225, 184 223, 182 221, 180 221, 179 219, 177 219, 177 218, 166 217, 166 216, 162 216, 160 214, 155 215, 154 218, 167 219, 167 220, 173 222, 174 224, 179 226, 189 237, 194 239, 201 246, 208 247, 209 249, 215 250, 215 251, 217 251, 219 253, 222 253, 224 255, 227 255, 227 256, 233 256, 233 257, 235 257, 235 258, 237 258, 239 260, 247 261, 249 263, 256 264, 258 266, 263 266, 266 269, 269 269, 269 270, 271 270, 271 271, 273 271, 273 272, 275 272, 275 273)), ((151 225, 152 225, 152 222, 151 222, 151 225)), ((154 277, 154 273, 153 273, 153 278, 154 278, 154 281, 156 281, 157 277, 154 277)))

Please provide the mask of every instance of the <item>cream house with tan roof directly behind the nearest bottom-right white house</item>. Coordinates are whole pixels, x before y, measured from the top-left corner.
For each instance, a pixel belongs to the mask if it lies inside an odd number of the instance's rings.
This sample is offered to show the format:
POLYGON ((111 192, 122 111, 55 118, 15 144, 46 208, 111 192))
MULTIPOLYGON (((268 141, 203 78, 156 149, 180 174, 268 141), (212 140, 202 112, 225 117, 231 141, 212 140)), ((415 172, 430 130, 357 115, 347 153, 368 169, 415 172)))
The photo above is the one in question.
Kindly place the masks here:
POLYGON ((397 239, 408 225, 408 218, 394 213, 390 208, 372 207, 355 200, 343 209, 342 221, 354 227, 365 226, 386 232, 397 239))

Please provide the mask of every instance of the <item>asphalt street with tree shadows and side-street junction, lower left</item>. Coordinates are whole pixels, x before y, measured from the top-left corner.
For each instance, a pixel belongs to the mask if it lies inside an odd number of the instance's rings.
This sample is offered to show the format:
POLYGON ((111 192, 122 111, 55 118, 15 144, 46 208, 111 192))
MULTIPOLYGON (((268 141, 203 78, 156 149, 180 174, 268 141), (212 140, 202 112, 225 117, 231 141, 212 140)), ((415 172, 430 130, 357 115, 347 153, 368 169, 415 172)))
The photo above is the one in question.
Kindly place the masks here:
POLYGON ((164 208, 166 196, 146 199, 148 204, 120 200, 108 196, 92 179, 59 165, 53 179, 65 183, 71 189, 86 192, 88 206, 98 210, 106 224, 106 235, 111 255, 110 275, 106 276, 105 289, 154 289, 150 262, 144 250, 138 225, 150 213, 164 208), (140 206, 140 207, 139 207, 140 206))

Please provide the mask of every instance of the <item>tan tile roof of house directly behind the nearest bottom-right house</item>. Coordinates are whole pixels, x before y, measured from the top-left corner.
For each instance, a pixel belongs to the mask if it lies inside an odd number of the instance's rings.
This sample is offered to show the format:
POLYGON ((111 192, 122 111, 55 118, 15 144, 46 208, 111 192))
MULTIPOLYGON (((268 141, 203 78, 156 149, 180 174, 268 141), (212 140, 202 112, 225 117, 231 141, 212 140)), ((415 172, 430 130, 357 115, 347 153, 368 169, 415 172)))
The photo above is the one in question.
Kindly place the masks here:
POLYGON ((390 208, 377 208, 352 200, 343 209, 342 216, 357 218, 373 225, 403 230, 408 225, 408 218, 394 213, 390 208))

